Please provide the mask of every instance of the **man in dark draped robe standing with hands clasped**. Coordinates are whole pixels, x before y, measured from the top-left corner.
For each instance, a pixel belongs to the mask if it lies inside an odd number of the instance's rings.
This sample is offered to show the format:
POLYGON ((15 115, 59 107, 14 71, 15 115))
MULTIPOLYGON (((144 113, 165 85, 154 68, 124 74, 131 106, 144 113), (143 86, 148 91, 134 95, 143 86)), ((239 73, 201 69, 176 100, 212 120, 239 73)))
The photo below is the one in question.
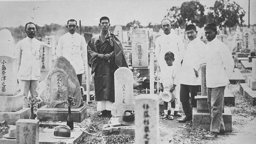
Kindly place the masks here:
POLYGON ((94 73, 97 111, 101 115, 110 115, 115 102, 114 72, 119 67, 128 67, 119 37, 109 29, 108 17, 100 18, 101 32, 88 42, 88 64, 94 73))

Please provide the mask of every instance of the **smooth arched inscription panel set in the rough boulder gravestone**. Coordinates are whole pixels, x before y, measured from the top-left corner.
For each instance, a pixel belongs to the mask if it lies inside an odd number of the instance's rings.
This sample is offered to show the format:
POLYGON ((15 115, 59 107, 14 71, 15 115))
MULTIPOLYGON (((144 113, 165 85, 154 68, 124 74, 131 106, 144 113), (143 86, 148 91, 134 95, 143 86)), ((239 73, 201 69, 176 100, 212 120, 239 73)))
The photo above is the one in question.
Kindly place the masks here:
POLYGON ((67 77, 62 72, 51 75, 51 100, 64 101, 67 98, 67 77))

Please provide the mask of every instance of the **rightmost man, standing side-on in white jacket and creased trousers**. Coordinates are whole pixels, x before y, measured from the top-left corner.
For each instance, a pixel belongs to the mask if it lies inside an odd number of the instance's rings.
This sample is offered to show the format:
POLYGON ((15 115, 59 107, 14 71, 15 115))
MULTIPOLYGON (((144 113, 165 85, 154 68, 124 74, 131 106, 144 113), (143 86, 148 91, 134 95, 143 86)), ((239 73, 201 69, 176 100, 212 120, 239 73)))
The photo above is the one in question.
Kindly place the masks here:
POLYGON ((229 84, 228 74, 233 72, 234 61, 227 45, 217 39, 217 26, 215 23, 206 24, 205 35, 207 43, 206 55, 206 87, 207 103, 211 115, 211 134, 207 138, 225 134, 222 118, 225 86, 229 84))

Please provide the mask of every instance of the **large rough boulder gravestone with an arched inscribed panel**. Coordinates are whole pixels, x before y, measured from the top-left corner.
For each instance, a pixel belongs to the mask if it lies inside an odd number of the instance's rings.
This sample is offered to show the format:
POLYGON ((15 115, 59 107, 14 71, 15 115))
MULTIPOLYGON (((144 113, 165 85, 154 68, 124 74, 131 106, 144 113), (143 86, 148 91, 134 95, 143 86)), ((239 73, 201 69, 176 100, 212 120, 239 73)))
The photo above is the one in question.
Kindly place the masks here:
POLYGON ((70 95, 77 100, 71 107, 77 108, 81 104, 81 89, 75 69, 63 56, 54 61, 48 75, 39 83, 37 92, 47 107, 67 107, 63 104, 70 95))

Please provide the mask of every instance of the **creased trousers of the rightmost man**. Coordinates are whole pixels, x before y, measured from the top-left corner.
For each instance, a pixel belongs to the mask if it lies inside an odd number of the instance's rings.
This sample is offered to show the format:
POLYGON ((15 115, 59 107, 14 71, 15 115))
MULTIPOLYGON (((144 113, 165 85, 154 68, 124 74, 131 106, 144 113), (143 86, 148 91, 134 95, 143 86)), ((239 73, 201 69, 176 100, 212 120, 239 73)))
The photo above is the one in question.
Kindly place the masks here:
POLYGON ((222 118, 224 90, 225 86, 207 88, 207 103, 211 115, 211 132, 219 132, 220 129, 225 130, 222 118))

